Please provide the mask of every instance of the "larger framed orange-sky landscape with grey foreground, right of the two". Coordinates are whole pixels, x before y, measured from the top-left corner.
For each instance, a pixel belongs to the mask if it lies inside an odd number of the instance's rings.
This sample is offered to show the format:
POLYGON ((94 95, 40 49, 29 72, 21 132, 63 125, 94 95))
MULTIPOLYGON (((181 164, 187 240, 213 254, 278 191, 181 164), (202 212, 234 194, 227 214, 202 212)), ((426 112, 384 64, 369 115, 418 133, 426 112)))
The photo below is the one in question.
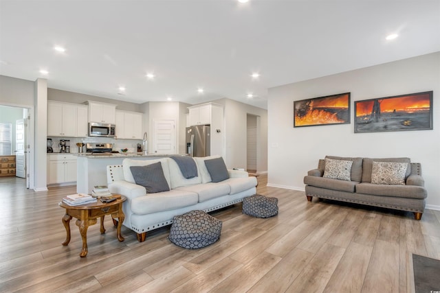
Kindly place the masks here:
POLYGON ((432 129, 432 91, 355 101, 355 133, 432 129))

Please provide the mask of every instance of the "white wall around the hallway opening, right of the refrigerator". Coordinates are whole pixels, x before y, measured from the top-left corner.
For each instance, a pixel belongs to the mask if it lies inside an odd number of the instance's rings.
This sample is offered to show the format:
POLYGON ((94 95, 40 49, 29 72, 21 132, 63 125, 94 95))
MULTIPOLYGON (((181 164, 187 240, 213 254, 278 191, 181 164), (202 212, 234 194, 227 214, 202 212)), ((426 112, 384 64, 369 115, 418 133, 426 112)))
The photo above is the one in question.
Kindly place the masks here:
POLYGON ((257 116, 257 172, 267 172, 267 110, 233 99, 212 101, 224 106, 225 164, 227 167, 246 168, 248 114, 257 116))

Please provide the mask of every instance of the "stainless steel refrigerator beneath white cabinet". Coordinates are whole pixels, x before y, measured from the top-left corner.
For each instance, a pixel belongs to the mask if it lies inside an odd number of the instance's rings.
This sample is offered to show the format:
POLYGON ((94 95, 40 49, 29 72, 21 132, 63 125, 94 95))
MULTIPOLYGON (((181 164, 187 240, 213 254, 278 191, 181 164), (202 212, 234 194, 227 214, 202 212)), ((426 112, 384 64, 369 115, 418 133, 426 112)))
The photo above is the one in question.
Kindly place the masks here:
POLYGON ((190 156, 210 156, 211 128, 208 125, 190 126, 186 128, 186 153, 190 156))

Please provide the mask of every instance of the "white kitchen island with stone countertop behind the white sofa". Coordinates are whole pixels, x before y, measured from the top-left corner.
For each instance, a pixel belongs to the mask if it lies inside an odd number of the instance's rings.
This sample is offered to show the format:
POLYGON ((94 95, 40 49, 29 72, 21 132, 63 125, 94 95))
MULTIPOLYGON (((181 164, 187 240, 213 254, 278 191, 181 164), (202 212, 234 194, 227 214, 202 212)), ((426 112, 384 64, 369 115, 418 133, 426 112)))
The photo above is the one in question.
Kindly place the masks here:
MULTIPOLYGON (((167 158, 173 154, 77 154, 76 192, 91 194, 96 185, 107 185, 107 165, 122 165, 124 159, 153 160, 167 158)), ((185 156, 185 155, 183 155, 185 156)))

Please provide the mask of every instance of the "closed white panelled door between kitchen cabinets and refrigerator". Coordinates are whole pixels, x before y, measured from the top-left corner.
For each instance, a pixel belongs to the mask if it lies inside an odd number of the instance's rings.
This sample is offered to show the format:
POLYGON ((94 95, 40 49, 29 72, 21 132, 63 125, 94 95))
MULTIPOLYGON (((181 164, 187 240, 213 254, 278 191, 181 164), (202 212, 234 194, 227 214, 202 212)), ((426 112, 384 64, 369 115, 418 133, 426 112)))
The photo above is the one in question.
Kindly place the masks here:
POLYGON ((153 149, 155 154, 176 153, 176 126, 174 120, 153 120, 153 149))

